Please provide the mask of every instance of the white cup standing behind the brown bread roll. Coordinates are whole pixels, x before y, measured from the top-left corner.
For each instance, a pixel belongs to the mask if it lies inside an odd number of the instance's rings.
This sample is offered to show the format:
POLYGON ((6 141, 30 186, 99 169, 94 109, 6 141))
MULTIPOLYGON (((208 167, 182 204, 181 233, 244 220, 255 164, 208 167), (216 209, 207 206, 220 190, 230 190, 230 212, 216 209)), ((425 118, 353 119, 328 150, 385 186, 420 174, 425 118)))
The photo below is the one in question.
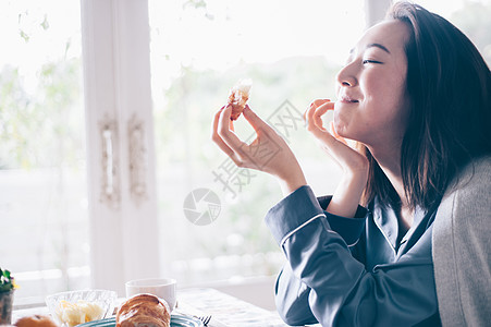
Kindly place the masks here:
POLYGON ((135 279, 126 281, 126 298, 148 293, 165 300, 171 312, 175 307, 177 281, 172 278, 135 279))

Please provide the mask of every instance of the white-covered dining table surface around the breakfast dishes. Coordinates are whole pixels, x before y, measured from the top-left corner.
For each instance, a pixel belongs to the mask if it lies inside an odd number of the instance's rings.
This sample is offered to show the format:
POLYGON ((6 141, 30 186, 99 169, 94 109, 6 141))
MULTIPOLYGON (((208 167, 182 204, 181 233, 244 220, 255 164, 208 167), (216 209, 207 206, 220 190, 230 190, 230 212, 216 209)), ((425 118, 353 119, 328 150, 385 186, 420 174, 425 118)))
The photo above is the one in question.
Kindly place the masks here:
MULTIPOLYGON (((125 299, 119 298, 115 310, 125 299)), ((115 310, 113 315, 115 314, 115 310)), ((212 288, 188 288, 177 290, 177 304, 172 314, 194 317, 211 316, 207 327, 283 327, 289 326, 275 311, 268 311, 244 300, 212 288)), ((49 315, 45 305, 15 308, 12 323, 35 314, 49 315)), ((318 326, 318 325, 309 325, 318 326)))

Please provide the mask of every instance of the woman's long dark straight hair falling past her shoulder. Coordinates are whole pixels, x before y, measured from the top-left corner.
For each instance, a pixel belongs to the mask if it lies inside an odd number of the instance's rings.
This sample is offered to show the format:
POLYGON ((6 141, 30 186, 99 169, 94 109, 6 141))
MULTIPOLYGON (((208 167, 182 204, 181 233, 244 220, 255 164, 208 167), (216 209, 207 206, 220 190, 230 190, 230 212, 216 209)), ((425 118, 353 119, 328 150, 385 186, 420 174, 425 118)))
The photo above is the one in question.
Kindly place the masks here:
MULTIPOLYGON (((401 152, 409 206, 429 210, 472 158, 491 154, 491 73, 472 43, 445 19, 409 2, 397 2, 388 19, 410 31, 406 44, 406 94, 410 114, 401 152)), ((368 149, 363 202, 401 201, 368 149)))

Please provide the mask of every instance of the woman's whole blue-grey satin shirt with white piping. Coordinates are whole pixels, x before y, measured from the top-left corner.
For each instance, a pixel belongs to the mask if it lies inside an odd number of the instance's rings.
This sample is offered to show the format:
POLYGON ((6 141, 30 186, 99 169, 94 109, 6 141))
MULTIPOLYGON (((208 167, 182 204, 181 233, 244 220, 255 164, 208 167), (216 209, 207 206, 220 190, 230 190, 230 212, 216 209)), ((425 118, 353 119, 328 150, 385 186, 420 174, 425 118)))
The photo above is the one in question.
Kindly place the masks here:
POLYGON ((440 326, 431 258, 434 213, 416 210, 404 238, 397 217, 375 201, 355 218, 324 211, 330 197, 302 186, 266 222, 287 263, 277 307, 289 325, 440 326), (400 240, 401 239, 401 240, 400 240))

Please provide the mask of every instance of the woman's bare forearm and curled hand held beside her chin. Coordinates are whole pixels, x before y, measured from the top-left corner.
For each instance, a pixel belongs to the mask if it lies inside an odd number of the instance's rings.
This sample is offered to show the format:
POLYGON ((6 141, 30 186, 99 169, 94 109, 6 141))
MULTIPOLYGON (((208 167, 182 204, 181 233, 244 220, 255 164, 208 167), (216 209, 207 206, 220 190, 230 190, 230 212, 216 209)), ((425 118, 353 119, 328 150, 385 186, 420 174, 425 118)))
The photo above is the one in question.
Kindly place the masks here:
POLYGON ((364 154, 351 147, 343 137, 336 134, 332 122, 331 132, 323 128, 322 116, 333 109, 334 102, 328 99, 317 99, 306 110, 304 119, 307 130, 343 170, 343 178, 327 210, 337 216, 354 217, 367 185, 369 165, 364 154))

